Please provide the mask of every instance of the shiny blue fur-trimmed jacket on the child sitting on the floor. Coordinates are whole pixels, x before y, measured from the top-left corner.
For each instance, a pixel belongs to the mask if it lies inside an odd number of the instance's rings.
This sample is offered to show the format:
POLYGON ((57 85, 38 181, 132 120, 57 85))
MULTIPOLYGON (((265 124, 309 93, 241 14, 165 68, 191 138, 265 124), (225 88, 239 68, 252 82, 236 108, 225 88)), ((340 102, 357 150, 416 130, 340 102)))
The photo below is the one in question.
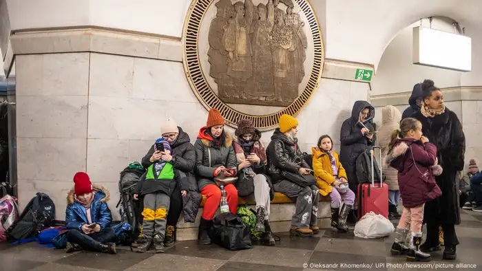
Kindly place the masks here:
MULTIPOLYGON (((112 222, 112 214, 110 213, 107 200, 109 193, 102 186, 92 184, 94 190, 94 201, 90 206, 90 217, 92 223, 101 226, 101 230, 109 227, 112 222), (105 191, 105 192, 104 192, 105 191)), ((78 204, 74 199, 73 191, 67 196, 67 210, 65 210, 65 226, 68 229, 75 228, 81 230, 83 224, 89 224, 87 221, 87 212, 84 206, 78 204)))

